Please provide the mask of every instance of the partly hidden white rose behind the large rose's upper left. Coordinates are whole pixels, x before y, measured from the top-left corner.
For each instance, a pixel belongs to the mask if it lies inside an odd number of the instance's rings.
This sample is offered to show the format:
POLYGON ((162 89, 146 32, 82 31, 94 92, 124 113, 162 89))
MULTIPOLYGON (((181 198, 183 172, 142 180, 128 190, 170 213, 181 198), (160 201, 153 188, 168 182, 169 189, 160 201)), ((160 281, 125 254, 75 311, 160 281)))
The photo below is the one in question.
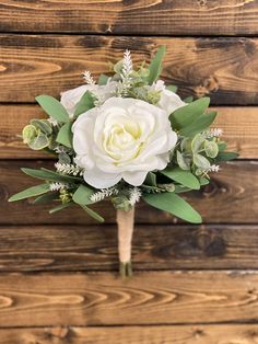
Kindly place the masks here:
POLYGON ((99 103, 104 103, 108 98, 114 95, 117 82, 110 81, 105 85, 98 84, 83 84, 79 88, 61 93, 60 102, 66 107, 70 117, 74 114, 75 106, 81 100, 82 95, 90 91, 98 99, 99 103))

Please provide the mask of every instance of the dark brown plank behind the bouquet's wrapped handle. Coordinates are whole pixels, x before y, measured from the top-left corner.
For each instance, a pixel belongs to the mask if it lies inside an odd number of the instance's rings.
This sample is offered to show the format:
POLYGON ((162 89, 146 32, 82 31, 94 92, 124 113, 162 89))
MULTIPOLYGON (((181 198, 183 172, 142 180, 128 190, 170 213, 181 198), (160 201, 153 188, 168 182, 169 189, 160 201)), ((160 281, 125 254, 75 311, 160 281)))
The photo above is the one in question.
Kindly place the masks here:
MULTIPOLYGON (((258 226, 136 226, 133 270, 258 268, 258 226)), ((115 226, 2 226, 0 272, 117 271, 115 226)))

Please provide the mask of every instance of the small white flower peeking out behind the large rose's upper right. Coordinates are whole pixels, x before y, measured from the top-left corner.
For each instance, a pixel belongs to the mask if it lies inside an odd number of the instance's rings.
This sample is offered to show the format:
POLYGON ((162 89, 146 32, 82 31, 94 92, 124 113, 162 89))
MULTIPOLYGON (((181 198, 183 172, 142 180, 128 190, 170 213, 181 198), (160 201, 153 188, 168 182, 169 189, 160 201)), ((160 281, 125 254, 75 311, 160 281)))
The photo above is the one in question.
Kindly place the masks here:
POLYGON ((186 105, 186 103, 183 102, 179 95, 165 88, 165 83, 163 80, 157 80, 155 83, 153 83, 151 89, 161 92, 161 100, 157 105, 163 108, 167 113, 167 115, 171 115, 177 108, 186 105))

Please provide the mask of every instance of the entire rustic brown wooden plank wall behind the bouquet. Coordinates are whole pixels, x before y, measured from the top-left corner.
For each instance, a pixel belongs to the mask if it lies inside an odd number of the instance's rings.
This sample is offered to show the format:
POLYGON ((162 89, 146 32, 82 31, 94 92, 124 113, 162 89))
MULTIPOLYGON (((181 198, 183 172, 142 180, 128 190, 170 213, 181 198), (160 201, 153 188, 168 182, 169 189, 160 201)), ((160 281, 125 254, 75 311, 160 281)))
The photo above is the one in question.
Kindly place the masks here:
POLYGON ((0 2, 0 344, 258 343, 258 0, 3 0, 0 2), (203 225, 141 204, 136 274, 117 276, 115 213, 98 226, 79 209, 8 197, 49 167, 17 134, 81 73, 122 50, 150 60, 183 96, 209 95, 237 161, 187 195, 203 225))

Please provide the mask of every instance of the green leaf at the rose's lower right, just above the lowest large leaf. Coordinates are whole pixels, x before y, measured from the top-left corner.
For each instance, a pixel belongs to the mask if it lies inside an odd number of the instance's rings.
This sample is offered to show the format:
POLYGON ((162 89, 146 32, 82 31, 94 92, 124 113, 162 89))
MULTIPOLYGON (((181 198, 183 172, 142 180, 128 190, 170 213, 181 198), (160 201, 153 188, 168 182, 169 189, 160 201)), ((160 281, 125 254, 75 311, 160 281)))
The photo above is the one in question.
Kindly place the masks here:
POLYGON ((160 171, 165 176, 169 177, 171 180, 190 187, 192 190, 199 190, 200 183, 198 179, 189 171, 183 171, 180 168, 174 168, 174 169, 165 169, 163 171, 160 171))

